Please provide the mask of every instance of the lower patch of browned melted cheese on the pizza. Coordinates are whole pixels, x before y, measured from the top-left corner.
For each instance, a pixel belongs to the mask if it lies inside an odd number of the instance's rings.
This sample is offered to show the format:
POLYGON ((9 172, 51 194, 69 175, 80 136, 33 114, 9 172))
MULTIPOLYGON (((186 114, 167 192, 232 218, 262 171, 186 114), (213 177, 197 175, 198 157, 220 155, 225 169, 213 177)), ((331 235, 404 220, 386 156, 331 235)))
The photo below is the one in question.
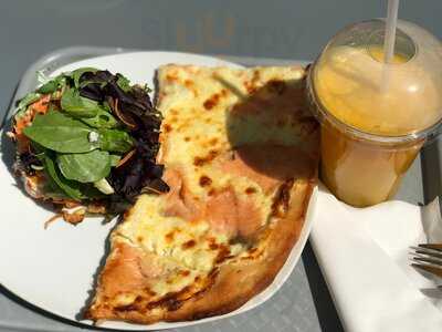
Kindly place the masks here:
POLYGON ((242 251, 241 245, 229 246, 224 235, 210 232, 206 222, 165 217, 161 214, 164 205, 160 196, 143 195, 118 228, 118 235, 130 239, 133 246, 158 255, 164 268, 175 271, 150 286, 159 297, 181 290, 198 276, 207 276, 213 269, 222 246, 229 248, 231 255, 242 251))

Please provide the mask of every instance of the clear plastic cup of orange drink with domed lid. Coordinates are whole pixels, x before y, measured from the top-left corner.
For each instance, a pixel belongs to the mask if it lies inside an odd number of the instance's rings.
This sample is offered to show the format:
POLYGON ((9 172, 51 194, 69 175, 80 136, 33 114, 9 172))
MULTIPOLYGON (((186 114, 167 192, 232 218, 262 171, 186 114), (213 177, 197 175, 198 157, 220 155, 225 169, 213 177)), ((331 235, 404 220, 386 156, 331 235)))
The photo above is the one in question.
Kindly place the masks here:
POLYGON ((420 148, 441 126, 440 42, 399 21, 397 61, 387 65, 379 52, 383 31, 382 20, 344 29, 307 79, 309 105, 322 126, 322 180, 356 207, 392 198, 420 148))

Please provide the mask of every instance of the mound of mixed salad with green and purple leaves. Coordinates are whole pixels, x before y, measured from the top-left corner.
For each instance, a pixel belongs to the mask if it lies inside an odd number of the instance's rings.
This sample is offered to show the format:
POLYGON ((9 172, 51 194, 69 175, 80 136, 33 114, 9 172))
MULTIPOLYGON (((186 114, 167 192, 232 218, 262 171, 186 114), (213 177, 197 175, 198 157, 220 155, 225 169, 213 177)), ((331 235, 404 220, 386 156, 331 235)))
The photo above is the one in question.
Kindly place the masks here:
POLYGON ((31 196, 115 214, 140 193, 168 190, 156 164, 161 116, 146 85, 93 68, 41 80, 18 103, 10 132, 31 196))

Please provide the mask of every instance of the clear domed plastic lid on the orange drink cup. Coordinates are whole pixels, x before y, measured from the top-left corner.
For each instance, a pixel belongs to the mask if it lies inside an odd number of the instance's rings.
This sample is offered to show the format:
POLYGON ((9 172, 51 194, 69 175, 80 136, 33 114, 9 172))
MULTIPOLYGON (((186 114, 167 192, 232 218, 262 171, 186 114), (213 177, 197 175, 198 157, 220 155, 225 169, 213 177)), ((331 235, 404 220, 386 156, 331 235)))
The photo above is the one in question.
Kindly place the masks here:
POLYGON ((340 31, 315 62, 316 102, 336 123, 386 137, 424 137, 442 117, 442 44, 427 30, 398 22, 394 56, 383 62, 385 21, 340 31))

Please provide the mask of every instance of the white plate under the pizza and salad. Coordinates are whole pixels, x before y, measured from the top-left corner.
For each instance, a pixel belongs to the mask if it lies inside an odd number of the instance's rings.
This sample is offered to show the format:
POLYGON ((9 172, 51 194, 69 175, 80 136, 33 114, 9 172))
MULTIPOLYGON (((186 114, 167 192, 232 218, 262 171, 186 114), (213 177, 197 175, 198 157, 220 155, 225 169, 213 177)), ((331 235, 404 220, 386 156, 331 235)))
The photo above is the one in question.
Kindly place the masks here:
MULTIPOLYGON (((126 75, 133 83, 154 86, 155 70, 166 63, 197 65, 229 65, 220 59, 172 52, 135 52, 99 56, 75 62, 54 72, 54 75, 81 66, 107 69, 126 75)), ((3 151, 2 148, 2 160, 3 151)), ((11 152, 9 152, 11 153, 11 152)), ((124 330, 157 330, 186 326, 248 311, 270 299, 293 271, 307 240, 314 212, 316 190, 311 200, 304 228, 286 263, 273 283, 242 308, 229 314, 193 322, 136 325, 105 322, 101 326, 124 330)), ((52 212, 35 204, 17 187, 4 162, 0 163, 0 282, 23 300, 59 317, 77 321, 76 315, 90 298, 93 276, 104 258, 107 236, 115 221, 102 225, 101 219, 87 219, 73 227, 55 222, 44 230, 43 224, 52 212)), ((91 321, 81 321, 92 324, 91 321)))

